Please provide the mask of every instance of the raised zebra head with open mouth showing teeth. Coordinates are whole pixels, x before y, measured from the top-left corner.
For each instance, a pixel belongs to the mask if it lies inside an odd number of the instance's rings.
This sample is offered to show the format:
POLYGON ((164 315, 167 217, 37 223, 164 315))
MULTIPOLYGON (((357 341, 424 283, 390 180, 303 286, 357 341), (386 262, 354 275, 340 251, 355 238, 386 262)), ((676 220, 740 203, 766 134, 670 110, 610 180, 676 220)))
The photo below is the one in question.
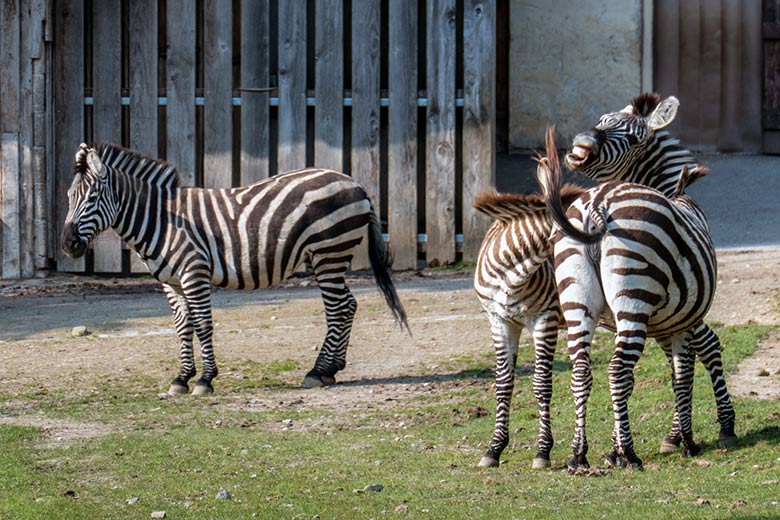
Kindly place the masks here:
POLYGON ((566 166, 605 182, 627 180, 627 172, 646 153, 655 133, 669 125, 680 102, 670 96, 642 94, 620 112, 601 116, 591 130, 577 134, 566 154, 566 166))

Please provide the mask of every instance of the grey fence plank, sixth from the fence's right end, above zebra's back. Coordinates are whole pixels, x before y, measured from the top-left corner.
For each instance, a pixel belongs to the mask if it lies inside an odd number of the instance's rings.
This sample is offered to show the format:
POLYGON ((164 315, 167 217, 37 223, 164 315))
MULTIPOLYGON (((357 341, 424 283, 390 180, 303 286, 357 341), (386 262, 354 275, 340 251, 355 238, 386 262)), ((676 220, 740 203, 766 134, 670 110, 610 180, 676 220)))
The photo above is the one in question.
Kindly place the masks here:
POLYGON ((306 166, 306 2, 279 2, 279 172, 306 166))

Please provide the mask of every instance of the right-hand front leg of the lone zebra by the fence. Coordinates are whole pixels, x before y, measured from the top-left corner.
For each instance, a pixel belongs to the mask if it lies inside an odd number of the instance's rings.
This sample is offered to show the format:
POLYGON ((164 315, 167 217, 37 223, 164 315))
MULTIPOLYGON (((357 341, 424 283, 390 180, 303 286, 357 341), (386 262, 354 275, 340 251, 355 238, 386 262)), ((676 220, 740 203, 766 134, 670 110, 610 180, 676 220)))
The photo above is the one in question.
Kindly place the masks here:
POLYGON ((205 395, 214 392, 211 381, 217 377, 217 362, 214 358, 212 338, 214 328, 211 319, 211 284, 207 276, 193 276, 182 280, 187 308, 190 311, 195 334, 200 342, 200 354, 203 369, 195 383, 192 395, 205 395))

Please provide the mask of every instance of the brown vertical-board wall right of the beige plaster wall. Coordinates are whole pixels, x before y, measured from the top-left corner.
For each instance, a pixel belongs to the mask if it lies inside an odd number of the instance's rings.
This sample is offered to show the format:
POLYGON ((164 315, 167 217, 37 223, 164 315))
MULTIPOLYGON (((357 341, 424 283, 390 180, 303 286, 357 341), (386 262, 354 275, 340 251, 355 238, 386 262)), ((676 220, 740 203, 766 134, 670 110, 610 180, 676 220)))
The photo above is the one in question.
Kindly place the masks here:
POLYGON ((696 150, 760 152, 761 0, 654 7, 654 85, 680 99, 675 135, 696 150))

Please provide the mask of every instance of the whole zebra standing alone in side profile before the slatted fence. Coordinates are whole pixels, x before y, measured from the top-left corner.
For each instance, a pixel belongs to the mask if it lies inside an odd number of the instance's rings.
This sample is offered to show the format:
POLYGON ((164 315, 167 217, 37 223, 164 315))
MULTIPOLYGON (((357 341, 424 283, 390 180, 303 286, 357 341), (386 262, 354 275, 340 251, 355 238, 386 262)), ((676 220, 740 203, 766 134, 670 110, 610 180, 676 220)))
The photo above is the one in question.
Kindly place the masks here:
POLYGON ((187 188, 164 161, 111 144, 97 149, 81 144, 68 200, 61 242, 67 255, 84 255, 90 241, 110 226, 162 282, 181 343, 181 368, 171 394, 187 393, 196 373, 193 332, 203 359, 193 394, 213 391, 211 284, 264 288, 302 264, 317 279, 327 321, 322 349, 303 386, 334 383, 346 365, 357 308, 344 274, 366 228, 377 285, 396 321, 408 329, 371 201, 346 175, 310 168, 242 188, 187 188))

